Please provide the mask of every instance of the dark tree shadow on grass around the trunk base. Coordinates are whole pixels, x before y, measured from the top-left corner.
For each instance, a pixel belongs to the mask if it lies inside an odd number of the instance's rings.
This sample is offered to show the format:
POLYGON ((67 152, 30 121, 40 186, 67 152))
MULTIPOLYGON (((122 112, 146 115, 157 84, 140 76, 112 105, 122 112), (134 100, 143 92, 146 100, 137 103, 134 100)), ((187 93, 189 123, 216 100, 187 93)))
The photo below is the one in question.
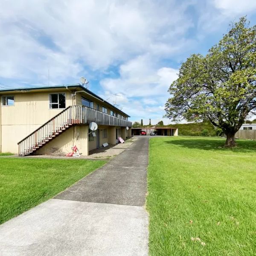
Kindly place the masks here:
POLYGON ((168 144, 178 145, 184 148, 197 148, 201 150, 212 150, 212 151, 232 151, 232 152, 246 152, 246 153, 256 153, 256 141, 251 140, 236 140, 237 146, 235 148, 225 147, 225 140, 214 140, 207 139, 206 137, 200 138, 188 138, 182 140, 168 140, 168 144))

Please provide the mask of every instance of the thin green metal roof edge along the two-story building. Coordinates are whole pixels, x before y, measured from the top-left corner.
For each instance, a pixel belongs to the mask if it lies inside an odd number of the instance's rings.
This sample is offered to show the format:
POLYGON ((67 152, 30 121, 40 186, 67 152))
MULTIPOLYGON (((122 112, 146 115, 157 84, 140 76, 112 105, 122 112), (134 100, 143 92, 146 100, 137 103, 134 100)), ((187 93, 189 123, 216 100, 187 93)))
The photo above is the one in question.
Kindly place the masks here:
MULTIPOLYGON (((0 89, 0 93, 1 92, 12 92, 12 91, 16 91, 16 92, 24 92, 25 91, 26 92, 26 91, 30 91, 30 90, 42 90, 42 89, 54 89, 54 88, 77 88, 77 87, 81 88, 81 90, 84 90, 84 92, 94 96, 95 98, 101 100, 102 102, 106 102, 112 108, 114 108, 114 109, 118 110, 119 112, 123 113, 125 116, 128 116, 128 114, 126 114, 125 112, 121 111, 119 108, 116 108, 111 103, 105 101, 104 99, 99 97, 97 94, 95 94, 92 91, 88 90, 87 88, 85 88, 81 84, 63 84, 63 85, 55 85, 55 86, 36 86, 36 87, 23 87, 23 88, 13 88, 13 89, 0 89)), ((128 117, 131 117, 131 116, 128 116, 128 117)))

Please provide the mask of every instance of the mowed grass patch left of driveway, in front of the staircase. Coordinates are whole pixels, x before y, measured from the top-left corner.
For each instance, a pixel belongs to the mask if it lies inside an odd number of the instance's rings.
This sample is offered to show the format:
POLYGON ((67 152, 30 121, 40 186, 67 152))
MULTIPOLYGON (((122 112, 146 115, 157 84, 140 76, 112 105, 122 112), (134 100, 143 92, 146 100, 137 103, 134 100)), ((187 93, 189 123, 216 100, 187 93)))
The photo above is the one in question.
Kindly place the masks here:
POLYGON ((0 224, 46 201, 105 161, 0 159, 0 224))

